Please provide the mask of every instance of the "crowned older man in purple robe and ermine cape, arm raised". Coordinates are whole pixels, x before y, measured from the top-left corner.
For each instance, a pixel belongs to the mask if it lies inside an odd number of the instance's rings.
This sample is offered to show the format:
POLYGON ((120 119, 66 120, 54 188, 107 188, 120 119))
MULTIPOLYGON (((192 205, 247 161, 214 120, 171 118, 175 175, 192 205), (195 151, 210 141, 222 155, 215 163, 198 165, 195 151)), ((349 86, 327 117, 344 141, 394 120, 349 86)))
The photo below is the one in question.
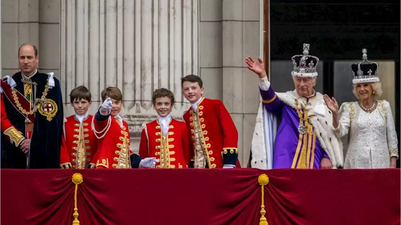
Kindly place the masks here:
POLYGON ((259 76, 262 96, 251 144, 253 168, 342 167, 342 143, 334 134, 332 113, 324 104, 323 95, 313 88, 319 58, 309 55, 309 44, 304 44, 303 50, 302 55, 292 56, 295 90, 285 93, 271 88, 261 58, 245 59, 249 70, 259 76))

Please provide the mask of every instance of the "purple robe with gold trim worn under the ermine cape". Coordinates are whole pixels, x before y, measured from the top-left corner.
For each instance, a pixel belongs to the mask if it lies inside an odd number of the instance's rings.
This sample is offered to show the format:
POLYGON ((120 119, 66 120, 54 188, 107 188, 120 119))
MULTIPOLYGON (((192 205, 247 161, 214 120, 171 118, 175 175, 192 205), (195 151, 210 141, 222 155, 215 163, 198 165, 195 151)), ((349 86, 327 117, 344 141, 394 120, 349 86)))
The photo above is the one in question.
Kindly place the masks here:
MULTIPOLYGON (((273 169, 319 169, 320 161, 323 157, 330 159, 316 137, 316 135, 320 134, 316 134, 314 128, 312 135, 307 132, 304 135, 299 133, 300 117, 297 111, 281 102, 271 87, 267 91, 260 88, 259 90, 266 110, 281 118, 274 143, 273 169), (303 148, 306 148, 304 149, 304 154, 302 154, 303 148)), ((309 102, 315 97, 316 93, 306 98, 306 100, 309 102)))

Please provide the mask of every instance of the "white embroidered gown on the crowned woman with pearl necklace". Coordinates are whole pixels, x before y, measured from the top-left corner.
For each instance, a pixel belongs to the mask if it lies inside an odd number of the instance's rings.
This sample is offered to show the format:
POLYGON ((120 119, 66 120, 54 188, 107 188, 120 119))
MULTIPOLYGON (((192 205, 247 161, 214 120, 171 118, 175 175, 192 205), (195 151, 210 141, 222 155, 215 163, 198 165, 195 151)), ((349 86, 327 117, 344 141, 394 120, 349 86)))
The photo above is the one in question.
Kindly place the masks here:
POLYGON ((344 168, 389 168, 390 158, 398 158, 398 140, 389 102, 379 100, 373 112, 365 112, 358 102, 344 102, 340 107, 337 137, 349 131, 350 141, 344 168))

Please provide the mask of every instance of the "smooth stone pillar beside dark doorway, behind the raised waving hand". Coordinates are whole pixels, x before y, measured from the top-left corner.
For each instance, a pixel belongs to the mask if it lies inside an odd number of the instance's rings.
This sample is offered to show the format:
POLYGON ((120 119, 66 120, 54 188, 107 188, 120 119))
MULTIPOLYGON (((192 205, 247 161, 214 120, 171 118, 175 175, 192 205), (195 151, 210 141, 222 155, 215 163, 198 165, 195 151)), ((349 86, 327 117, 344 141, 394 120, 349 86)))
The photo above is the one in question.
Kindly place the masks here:
POLYGON ((259 106, 257 75, 245 57, 259 55, 259 0, 223 0, 223 103, 237 127, 239 161, 246 167, 259 106))

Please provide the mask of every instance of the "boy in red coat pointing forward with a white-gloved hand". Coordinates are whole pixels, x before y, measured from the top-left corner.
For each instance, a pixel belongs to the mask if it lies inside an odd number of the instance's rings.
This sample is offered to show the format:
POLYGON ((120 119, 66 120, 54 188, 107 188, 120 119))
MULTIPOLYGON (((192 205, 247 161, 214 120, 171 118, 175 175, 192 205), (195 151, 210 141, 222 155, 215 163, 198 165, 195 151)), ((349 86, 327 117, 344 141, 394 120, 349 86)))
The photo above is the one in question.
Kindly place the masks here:
POLYGON ((119 116, 122 93, 116 87, 101 92, 103 104, 93 117, 92 129, 99 139, 95 168, 154 168, 156 157, 142 159, 130 150, 128 124, 119 116))

